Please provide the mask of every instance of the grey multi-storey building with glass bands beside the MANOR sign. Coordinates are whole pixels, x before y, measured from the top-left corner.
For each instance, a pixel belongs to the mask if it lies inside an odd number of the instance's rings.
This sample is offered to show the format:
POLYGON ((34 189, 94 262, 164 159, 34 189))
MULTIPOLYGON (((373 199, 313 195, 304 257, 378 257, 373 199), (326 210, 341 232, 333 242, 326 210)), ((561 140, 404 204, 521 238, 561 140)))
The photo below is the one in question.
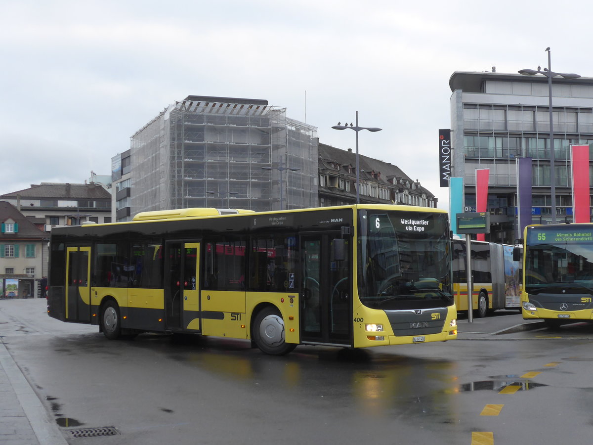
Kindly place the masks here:
MULTIPOLYGON (((451 87, 451 176, 463 177, 466 211, 476 211, 476 169, 489 169, 486 239, 514 243, 517 158, 532 158, 532 222, 572 220, 570 145, 593 144, 593 78, 552 80, 554 186, 551 196, 547 78, 496 72, 454 72, 451 87)), ((590 156, 593 159, 593 156, 590 156)), ((589 176, 593 167, 589 166, 589 176)), ((593 182, 591 182, 593 183, 593 182)))

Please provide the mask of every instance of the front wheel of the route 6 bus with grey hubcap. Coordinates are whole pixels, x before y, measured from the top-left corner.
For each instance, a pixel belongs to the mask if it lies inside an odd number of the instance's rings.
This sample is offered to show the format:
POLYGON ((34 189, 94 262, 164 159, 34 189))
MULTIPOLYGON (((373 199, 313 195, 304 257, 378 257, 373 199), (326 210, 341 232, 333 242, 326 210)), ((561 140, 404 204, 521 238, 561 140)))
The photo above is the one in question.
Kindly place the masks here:
POLYGON ((275 307, 259 311, 253 323, 253 339, 258 348, 270 355, 283 355, 297 345, 285 342, 284 320, 275 307))

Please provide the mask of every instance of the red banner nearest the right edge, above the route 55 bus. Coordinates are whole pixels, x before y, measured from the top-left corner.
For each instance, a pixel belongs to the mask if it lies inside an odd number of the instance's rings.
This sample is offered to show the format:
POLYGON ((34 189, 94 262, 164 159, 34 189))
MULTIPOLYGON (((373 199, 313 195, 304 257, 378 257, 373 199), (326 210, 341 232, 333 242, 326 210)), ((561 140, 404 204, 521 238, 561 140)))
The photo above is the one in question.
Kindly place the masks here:
POLYGON ((589 205, 589 145, 570 145, 574 222, 591 222, 589 205))

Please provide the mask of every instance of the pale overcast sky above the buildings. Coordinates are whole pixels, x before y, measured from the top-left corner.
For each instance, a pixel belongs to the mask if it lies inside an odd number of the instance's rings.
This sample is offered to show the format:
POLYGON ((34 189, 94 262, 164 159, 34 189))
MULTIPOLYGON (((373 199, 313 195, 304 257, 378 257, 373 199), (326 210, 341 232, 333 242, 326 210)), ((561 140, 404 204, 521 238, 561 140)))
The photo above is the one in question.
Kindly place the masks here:
POLYGON ((396 164, 448 207, 438 129, 454 71, 593 77, 590 0, 0 0, 0 194, 110 174, 190 94, 266 99, 324 144, 396 164), (549 37, 546 37, 550 34, 549 37))

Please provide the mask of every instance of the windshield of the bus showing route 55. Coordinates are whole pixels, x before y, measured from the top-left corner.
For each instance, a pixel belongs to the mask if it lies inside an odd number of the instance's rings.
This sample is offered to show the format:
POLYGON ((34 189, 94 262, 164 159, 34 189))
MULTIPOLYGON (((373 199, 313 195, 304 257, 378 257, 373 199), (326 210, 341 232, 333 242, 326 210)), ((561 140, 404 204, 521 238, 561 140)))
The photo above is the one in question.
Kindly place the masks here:
POLYGON ((530 294, 561 285, 593 293, 593 228, 536 227, 528 231, 525 290, 530 294))

